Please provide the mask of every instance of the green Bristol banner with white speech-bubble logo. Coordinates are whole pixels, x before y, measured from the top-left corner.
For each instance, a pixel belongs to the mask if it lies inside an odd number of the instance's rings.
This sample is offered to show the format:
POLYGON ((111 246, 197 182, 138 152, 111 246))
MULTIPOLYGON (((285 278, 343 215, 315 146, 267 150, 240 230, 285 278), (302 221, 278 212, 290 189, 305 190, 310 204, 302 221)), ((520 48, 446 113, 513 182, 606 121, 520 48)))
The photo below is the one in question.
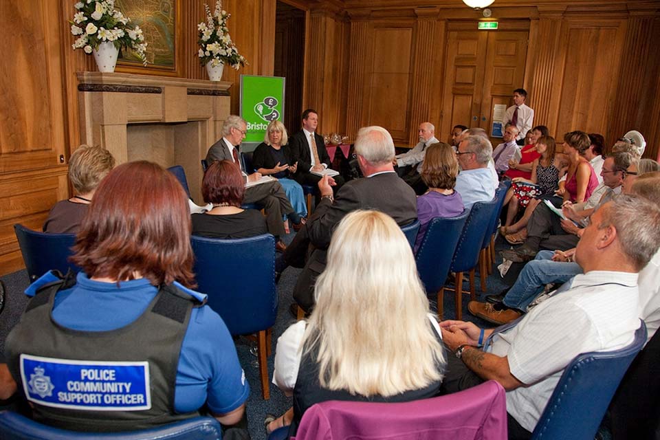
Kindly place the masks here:
POLYGON ((241 75, 241 118, 248 122, 244 142, 263 142, 268 122, 284 122, 281 76, 241 75))

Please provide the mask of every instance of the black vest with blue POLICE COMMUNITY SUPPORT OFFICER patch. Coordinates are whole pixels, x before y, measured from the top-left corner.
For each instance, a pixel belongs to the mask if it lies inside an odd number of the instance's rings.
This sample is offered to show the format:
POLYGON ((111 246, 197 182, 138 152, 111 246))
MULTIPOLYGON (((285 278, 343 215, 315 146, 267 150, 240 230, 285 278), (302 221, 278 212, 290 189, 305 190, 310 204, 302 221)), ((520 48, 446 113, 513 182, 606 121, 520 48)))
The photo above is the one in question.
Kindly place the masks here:
POLYGON ((67 276, 41 287, 5 343, 8 366, 34 419, 69 430, 114 432, 198 415, 176 414, 174 395, 181 343, 199 301, 163 286, 131 324, 77 331, 52 318, 56 293, 74 284, 67 276))

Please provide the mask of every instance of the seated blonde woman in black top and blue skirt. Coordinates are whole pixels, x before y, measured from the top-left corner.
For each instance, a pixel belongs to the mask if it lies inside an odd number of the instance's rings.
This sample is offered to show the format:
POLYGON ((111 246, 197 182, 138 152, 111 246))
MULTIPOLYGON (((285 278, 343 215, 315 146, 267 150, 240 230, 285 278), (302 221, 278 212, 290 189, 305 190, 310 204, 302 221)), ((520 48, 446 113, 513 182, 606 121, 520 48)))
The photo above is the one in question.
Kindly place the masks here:
POLYGON ((284 124, 278 120, 271 121, 266 128, 263 142, 254 150, 252 166, 257 173, 278 179, 294 210, 300 217, 307 217, 303 187, 291 178, 298 170, 298 162, 292 161, 288 142, 289 136, 284 124))

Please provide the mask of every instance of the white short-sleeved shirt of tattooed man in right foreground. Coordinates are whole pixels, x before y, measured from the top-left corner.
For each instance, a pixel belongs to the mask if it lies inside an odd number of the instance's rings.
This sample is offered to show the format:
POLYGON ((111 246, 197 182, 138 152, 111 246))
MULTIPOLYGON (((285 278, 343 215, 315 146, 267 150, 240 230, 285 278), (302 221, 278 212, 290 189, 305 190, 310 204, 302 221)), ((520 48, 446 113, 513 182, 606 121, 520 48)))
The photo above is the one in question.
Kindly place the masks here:
POLYGON ((507 412, 533 431, 566 366, 580 353, 626 347, 639 328, 637 274, 592 271, 551 296, 487 349, 507 356, 526 386, 507 392, 507 412))

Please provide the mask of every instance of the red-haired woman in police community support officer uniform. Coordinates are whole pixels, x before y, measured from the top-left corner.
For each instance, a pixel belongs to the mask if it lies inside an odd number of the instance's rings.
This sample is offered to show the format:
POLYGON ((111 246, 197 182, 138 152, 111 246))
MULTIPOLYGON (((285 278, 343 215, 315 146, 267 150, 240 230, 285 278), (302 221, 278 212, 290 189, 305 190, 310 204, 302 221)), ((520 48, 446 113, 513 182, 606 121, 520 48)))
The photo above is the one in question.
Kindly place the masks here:
POLYGON ((151 162, 122 164, 96 190, 72 261, 46 274, 6 341, 34 418, 69 430, 137 430, 208 412, 243 419, 250 392, 230 333, 193 290, 183 188, 151 162))

